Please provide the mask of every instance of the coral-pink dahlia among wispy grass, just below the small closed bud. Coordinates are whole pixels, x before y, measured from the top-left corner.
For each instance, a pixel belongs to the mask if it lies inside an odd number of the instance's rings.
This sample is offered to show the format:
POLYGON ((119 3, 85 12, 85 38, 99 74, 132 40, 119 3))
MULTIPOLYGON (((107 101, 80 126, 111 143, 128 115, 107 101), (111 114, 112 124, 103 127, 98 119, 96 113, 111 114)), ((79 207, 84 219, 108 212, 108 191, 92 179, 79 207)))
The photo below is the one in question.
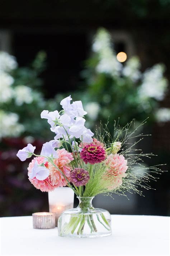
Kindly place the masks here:
POLYGON ((114 176, 124 174, 128 169, 127 160, 119 154, 110 154, 106 158, 106 165, 108 165, 108 172, 114 176))

